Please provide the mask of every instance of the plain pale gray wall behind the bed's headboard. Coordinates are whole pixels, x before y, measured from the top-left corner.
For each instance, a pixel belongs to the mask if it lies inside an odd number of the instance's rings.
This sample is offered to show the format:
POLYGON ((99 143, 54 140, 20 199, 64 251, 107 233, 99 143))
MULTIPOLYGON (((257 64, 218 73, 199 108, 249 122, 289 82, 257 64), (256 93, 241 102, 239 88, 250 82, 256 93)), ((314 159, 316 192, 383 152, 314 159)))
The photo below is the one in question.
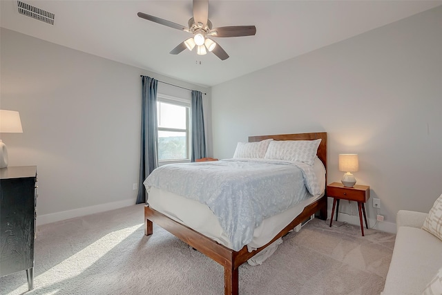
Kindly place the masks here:
MULTIPOLYGON (((214 156, 249 135, 327 131, 328 182, 343 174, 339 153, 358 153, 378 228, 394 231, 399 209, 429 211, 442 193, 441 32, 439 7, 214 86, 214 156)), ((340 218, 358 224, 352 206, 340 218)))

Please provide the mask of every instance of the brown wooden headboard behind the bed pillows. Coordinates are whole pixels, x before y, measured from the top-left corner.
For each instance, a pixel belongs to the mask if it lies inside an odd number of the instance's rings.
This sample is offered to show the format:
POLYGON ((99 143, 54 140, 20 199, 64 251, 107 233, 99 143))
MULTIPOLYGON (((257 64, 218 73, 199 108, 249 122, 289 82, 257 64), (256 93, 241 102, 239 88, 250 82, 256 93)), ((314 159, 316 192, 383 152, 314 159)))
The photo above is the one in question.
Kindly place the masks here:
MULTIPOLYGON (((249 142, 260 142, 261 140, 268 140, 270 138, 272 138, 273 140, 321 139, 317 155, 318 158, 323 161, 325 171, 327 171, 327 132, 249 136, 249 142)), ((325 181, 325 183, 327 183, 327 173, 325 174, 325 181)))

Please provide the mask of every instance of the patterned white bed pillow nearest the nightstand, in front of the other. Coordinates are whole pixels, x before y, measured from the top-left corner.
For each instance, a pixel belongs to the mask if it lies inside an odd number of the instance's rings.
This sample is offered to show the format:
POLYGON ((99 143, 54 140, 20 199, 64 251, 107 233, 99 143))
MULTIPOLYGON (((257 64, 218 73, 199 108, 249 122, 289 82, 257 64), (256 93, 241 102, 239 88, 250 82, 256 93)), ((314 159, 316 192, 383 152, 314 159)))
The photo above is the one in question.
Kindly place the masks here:
POLYGON ((313 165, 320 140, 273 140, 270 142, 266 159, 304 162, 313 165))

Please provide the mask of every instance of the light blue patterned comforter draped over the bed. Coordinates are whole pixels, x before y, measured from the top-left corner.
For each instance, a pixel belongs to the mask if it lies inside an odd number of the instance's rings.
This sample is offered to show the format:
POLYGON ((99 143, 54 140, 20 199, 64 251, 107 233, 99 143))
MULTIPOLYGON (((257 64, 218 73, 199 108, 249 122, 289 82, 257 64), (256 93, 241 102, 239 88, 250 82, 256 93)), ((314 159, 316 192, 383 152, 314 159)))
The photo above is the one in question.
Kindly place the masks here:
POLYGON ((251 242, 262 220, 320 193, 308 164, 264 159, 168 164, 144 181, 206 204, 239 251, 251 242))

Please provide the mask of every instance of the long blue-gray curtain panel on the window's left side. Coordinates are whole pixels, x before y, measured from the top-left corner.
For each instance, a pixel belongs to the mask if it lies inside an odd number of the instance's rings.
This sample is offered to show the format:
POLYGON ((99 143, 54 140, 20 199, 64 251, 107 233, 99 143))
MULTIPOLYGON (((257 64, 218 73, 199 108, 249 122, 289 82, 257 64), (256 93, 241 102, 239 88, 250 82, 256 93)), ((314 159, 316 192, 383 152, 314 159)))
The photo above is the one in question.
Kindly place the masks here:
POLYGON ((143 182, 158 166, 157 80, 141 76, 141 149, 137 204, 146 203, 143 182))

